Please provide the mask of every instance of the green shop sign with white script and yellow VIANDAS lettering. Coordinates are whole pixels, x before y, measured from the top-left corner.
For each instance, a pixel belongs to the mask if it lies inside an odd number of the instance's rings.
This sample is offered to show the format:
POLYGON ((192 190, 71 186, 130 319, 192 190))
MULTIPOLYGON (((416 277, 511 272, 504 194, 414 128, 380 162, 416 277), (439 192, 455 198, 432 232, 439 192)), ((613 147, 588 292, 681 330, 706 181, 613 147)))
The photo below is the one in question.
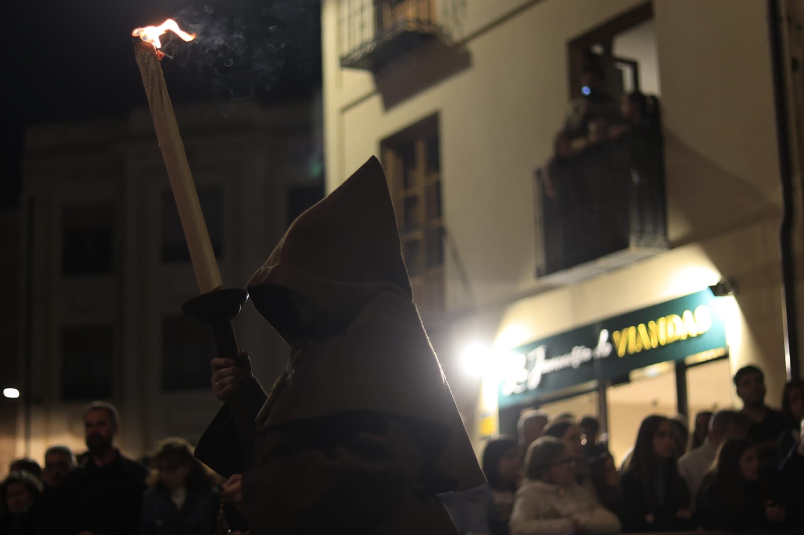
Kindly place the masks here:
POLYGON ((500 363, 499 406, 722 349, 726 328, 718 299, 707 289, 514 349, 500 363))

